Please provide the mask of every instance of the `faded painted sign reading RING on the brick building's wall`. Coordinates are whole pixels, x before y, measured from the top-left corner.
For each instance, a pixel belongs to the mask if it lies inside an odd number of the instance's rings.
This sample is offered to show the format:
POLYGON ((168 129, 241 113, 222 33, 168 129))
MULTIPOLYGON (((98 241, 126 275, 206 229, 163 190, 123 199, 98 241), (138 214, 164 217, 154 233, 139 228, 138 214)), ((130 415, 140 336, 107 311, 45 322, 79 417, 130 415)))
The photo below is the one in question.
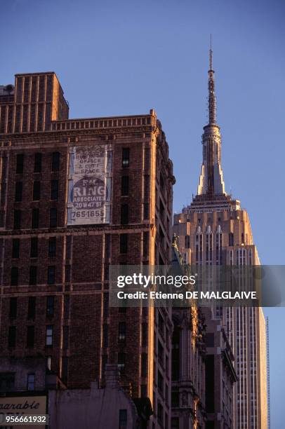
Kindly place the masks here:
POLYGON ((67 225, 110 223, 111 149, 110 144, 70 149, 67 225))

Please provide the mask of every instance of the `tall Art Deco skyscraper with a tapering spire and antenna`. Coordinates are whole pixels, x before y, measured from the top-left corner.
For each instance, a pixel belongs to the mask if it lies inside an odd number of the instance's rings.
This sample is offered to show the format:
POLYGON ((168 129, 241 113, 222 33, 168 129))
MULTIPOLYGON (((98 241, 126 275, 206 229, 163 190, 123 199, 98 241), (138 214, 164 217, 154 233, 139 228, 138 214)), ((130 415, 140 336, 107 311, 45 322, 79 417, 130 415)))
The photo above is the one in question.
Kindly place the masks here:
MULTIPOLYGON (((239 200, 225 192, 221 167, 220 127, 216 123, 216 96, 212 50, 208 71, 208 124, 202 136, 203 163, 197 196, 190 206, 174 216, 180 252, 192 264, 258 265, 248 213, 239 200)), ((261 308, 217 308, 234 352, 238 381, 232 398, 234 423, 227 415, 230 404, 222 397, 223 426, 235 429, 267 428, 266 336, 261 308)), ((207 388, 207 387, 206 387, 207 388)), ((210 426, 208 427, 215 427, 210 426)))

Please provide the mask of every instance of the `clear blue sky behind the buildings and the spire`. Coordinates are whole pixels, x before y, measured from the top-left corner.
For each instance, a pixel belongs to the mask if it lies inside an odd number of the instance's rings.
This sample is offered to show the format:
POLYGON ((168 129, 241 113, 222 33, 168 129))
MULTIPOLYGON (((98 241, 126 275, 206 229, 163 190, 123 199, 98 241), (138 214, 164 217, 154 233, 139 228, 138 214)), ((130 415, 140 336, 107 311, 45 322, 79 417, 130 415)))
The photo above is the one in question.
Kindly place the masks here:
MULTIPOLYGON (((251 217, 263 264, 284 264, 285 4, 271 0, 2 0, 1 81, 54 70, 71 117, 157 111, 190 203, 206 124, 213 34, 227 191, 251 217)), ((284 428, 285 308, 270 315, 272 428, 284 428)))

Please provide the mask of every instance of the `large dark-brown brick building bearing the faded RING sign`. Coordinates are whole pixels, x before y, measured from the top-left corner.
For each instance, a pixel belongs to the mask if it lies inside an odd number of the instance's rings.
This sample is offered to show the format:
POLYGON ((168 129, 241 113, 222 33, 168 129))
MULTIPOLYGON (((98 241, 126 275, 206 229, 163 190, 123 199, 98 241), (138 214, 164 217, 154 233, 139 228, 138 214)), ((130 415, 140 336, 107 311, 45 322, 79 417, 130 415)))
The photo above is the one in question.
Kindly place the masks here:
POLYGON ((171 314, 108 305, 110 264, 170 257, 175 179, 155 112, 68 119, 54 73, 16 75, 0 109, 1 357, 41 356, 68 388, 117 363, 166 428, 171 314))

